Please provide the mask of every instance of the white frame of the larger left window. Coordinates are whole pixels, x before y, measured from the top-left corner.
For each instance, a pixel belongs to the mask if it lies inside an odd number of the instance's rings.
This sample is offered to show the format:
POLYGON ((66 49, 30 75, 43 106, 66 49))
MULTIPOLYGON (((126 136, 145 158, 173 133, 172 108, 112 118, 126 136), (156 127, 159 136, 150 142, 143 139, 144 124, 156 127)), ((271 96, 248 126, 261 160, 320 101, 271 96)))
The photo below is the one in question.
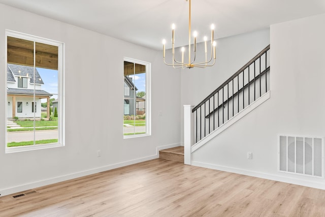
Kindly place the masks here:
MULTIPOLYGON (((8 106, 5 108, 5 130, 6 130, 6 137, 5 137, 5 153, 14 153, 20 151, 29 151, 29 150, 38 150, 44 148, 54 148, 54 147, 62 147, 65 145, 65 135, 64 135, 64 43, 58 42, 50 39, 41 38, 38 36, 32 36, 28 34, 23 34, 19 32, 15 32, 12 30, 6 29, 6 73, 5 73, 5 82, 7 86, 7 39, 9 37, 20 38, 24 40, 39 42, 43 44, 57 46, 58 48, 58 142, 57 143, 49 143, 49 144, 42 144, 42 145, 27 145, 27 146, 17 146, 17 147, 7 147, 7 114, 8 114, 8 106)), ((8 102, 7 99, 7 90, 5 91, 5 102, 8 102)), ((7 105, 7 104, 6 104, 7 105)))

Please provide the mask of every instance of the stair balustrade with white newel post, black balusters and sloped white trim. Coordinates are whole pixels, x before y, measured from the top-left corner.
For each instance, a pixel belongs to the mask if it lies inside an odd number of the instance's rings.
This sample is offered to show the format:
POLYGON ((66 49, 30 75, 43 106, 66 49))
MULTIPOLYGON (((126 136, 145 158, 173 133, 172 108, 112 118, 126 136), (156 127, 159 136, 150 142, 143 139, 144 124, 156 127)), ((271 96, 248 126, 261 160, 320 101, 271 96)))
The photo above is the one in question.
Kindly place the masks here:
POLYGON ((269 90, 270 45, 193 109, 184 105, 184 163, 190 165, 194 151, 267 101, 269 90))

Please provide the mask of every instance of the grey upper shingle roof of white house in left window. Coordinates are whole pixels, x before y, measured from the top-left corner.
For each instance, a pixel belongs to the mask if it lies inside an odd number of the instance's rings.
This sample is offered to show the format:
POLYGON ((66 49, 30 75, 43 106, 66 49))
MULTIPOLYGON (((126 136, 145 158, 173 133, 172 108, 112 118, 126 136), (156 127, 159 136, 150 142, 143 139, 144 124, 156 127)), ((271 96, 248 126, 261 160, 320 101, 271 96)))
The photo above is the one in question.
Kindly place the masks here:
MULTIPOLYGON (((8 71, 7 72, 7 81, 15 82, 16 80, 15 80, 14 76, 26 76, 27 77, 27 74, 28 74, 28 77, 30 77, 30 83, 34 83, 34 67, 22 66, 22 65, 16 65, 16 64, 8 64, 7 71, 8 71)), ((44 84, 37 69, 35 69, 35 78, 36 78, 36 84, 44 84)))

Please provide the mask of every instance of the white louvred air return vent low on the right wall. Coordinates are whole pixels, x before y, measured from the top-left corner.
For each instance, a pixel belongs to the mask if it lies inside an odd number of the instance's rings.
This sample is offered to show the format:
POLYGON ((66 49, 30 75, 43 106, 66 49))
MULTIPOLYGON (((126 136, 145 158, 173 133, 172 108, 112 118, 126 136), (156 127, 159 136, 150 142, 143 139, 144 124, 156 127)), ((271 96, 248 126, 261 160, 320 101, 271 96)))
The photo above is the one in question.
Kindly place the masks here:
POLYGON ((324 177, 323 137, 279 135, 278 170, 324 177))

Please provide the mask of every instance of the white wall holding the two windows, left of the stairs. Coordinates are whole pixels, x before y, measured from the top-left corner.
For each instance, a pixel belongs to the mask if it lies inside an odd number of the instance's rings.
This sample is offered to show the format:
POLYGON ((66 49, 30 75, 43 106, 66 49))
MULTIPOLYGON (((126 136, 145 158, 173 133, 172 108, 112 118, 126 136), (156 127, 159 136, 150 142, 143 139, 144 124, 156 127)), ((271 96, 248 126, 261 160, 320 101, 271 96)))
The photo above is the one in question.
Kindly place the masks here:
POLYGON ((160 52, 4 5, 0 5, 0 14, 3 71, 5 29, 66 43, 66 146, 5 154, 8 102, 5 79, 0 79, 0 102, 6 102, 0 106, 2 196, 157 158, 160 146, 179 145, 180 74, 162 63, 160 52), (152 63, 151 136, 123 139, 123 57, 152 63), (158 116, 159 111, 163 116, 158 116))

